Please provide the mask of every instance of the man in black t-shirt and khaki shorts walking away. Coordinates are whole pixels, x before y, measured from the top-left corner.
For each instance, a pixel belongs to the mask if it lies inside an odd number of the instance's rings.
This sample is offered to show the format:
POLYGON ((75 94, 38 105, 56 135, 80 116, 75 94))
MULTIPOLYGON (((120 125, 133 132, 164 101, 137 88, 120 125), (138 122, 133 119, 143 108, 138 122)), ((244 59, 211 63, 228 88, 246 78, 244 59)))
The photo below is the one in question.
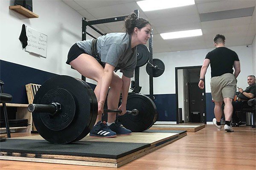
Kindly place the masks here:
POLYGON ((233 132, 230 121, 233 113, 232 101, 236 94, 236 77, 240 73, 240 62, 235 51, 225 47, 224 35, 217 34, 214 39, 215 49, 210 51, 205 59, 200 72, 198 87, 204 88, 204 76, 209 64, 211 65, 211 93, 214 100, 214 114, 212 119, 213 124, 221 129, 221 105, 224 101, 225 125, 224 130, 233 132), (233 74, 233 67, 235 72, 233 74))

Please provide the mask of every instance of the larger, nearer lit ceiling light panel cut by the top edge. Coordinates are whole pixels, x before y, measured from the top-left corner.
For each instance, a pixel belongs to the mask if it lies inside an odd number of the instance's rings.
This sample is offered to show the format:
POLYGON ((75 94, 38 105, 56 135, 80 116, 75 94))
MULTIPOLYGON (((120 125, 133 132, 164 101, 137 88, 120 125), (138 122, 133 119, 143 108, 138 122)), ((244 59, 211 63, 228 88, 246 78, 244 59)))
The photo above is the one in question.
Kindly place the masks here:
POLYGON ((195 0, 142 0, 137 4, 143 11, 153 11, 158 9, 175 8, 195 4, 195 0))

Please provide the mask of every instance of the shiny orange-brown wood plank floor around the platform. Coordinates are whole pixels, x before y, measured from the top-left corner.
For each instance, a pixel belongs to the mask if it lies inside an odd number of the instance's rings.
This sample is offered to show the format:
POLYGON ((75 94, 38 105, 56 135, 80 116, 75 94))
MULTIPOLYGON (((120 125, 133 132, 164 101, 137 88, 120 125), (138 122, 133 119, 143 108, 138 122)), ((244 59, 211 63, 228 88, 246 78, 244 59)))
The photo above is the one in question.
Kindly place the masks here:
MULTIPOLYGON (((119 170, 255 170, 256 129, 233 127, 234 133, 206 125, 197 132, 168 144, 119 170)), ((24 136, 26 134, 12 134, 24 136)), ((0 160, 1 170, 113 170, 116 168, 0 160)))

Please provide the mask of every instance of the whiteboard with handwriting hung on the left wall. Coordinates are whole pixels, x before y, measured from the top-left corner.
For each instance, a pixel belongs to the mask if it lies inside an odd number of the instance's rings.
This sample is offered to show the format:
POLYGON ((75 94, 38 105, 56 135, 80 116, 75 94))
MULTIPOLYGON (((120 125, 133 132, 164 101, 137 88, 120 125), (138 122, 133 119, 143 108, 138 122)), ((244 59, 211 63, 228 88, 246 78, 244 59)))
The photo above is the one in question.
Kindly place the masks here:
POLYGON ((28 45, 25 51, 46 58, 47 35, 26 26, 26 36, 28 37, 28 45))

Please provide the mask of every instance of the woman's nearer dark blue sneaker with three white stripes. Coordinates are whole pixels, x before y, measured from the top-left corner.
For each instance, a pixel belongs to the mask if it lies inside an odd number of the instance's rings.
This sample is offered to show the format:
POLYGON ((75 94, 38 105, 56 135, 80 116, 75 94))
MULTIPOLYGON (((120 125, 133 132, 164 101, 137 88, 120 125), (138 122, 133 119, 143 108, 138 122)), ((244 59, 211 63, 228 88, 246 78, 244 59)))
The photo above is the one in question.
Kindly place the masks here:
POLYGON ((93 126, 92 130, 90 131, 90 136, 111 138, 116 137, 116 133, 107 127, 105 121, 99 121, 93 126))

